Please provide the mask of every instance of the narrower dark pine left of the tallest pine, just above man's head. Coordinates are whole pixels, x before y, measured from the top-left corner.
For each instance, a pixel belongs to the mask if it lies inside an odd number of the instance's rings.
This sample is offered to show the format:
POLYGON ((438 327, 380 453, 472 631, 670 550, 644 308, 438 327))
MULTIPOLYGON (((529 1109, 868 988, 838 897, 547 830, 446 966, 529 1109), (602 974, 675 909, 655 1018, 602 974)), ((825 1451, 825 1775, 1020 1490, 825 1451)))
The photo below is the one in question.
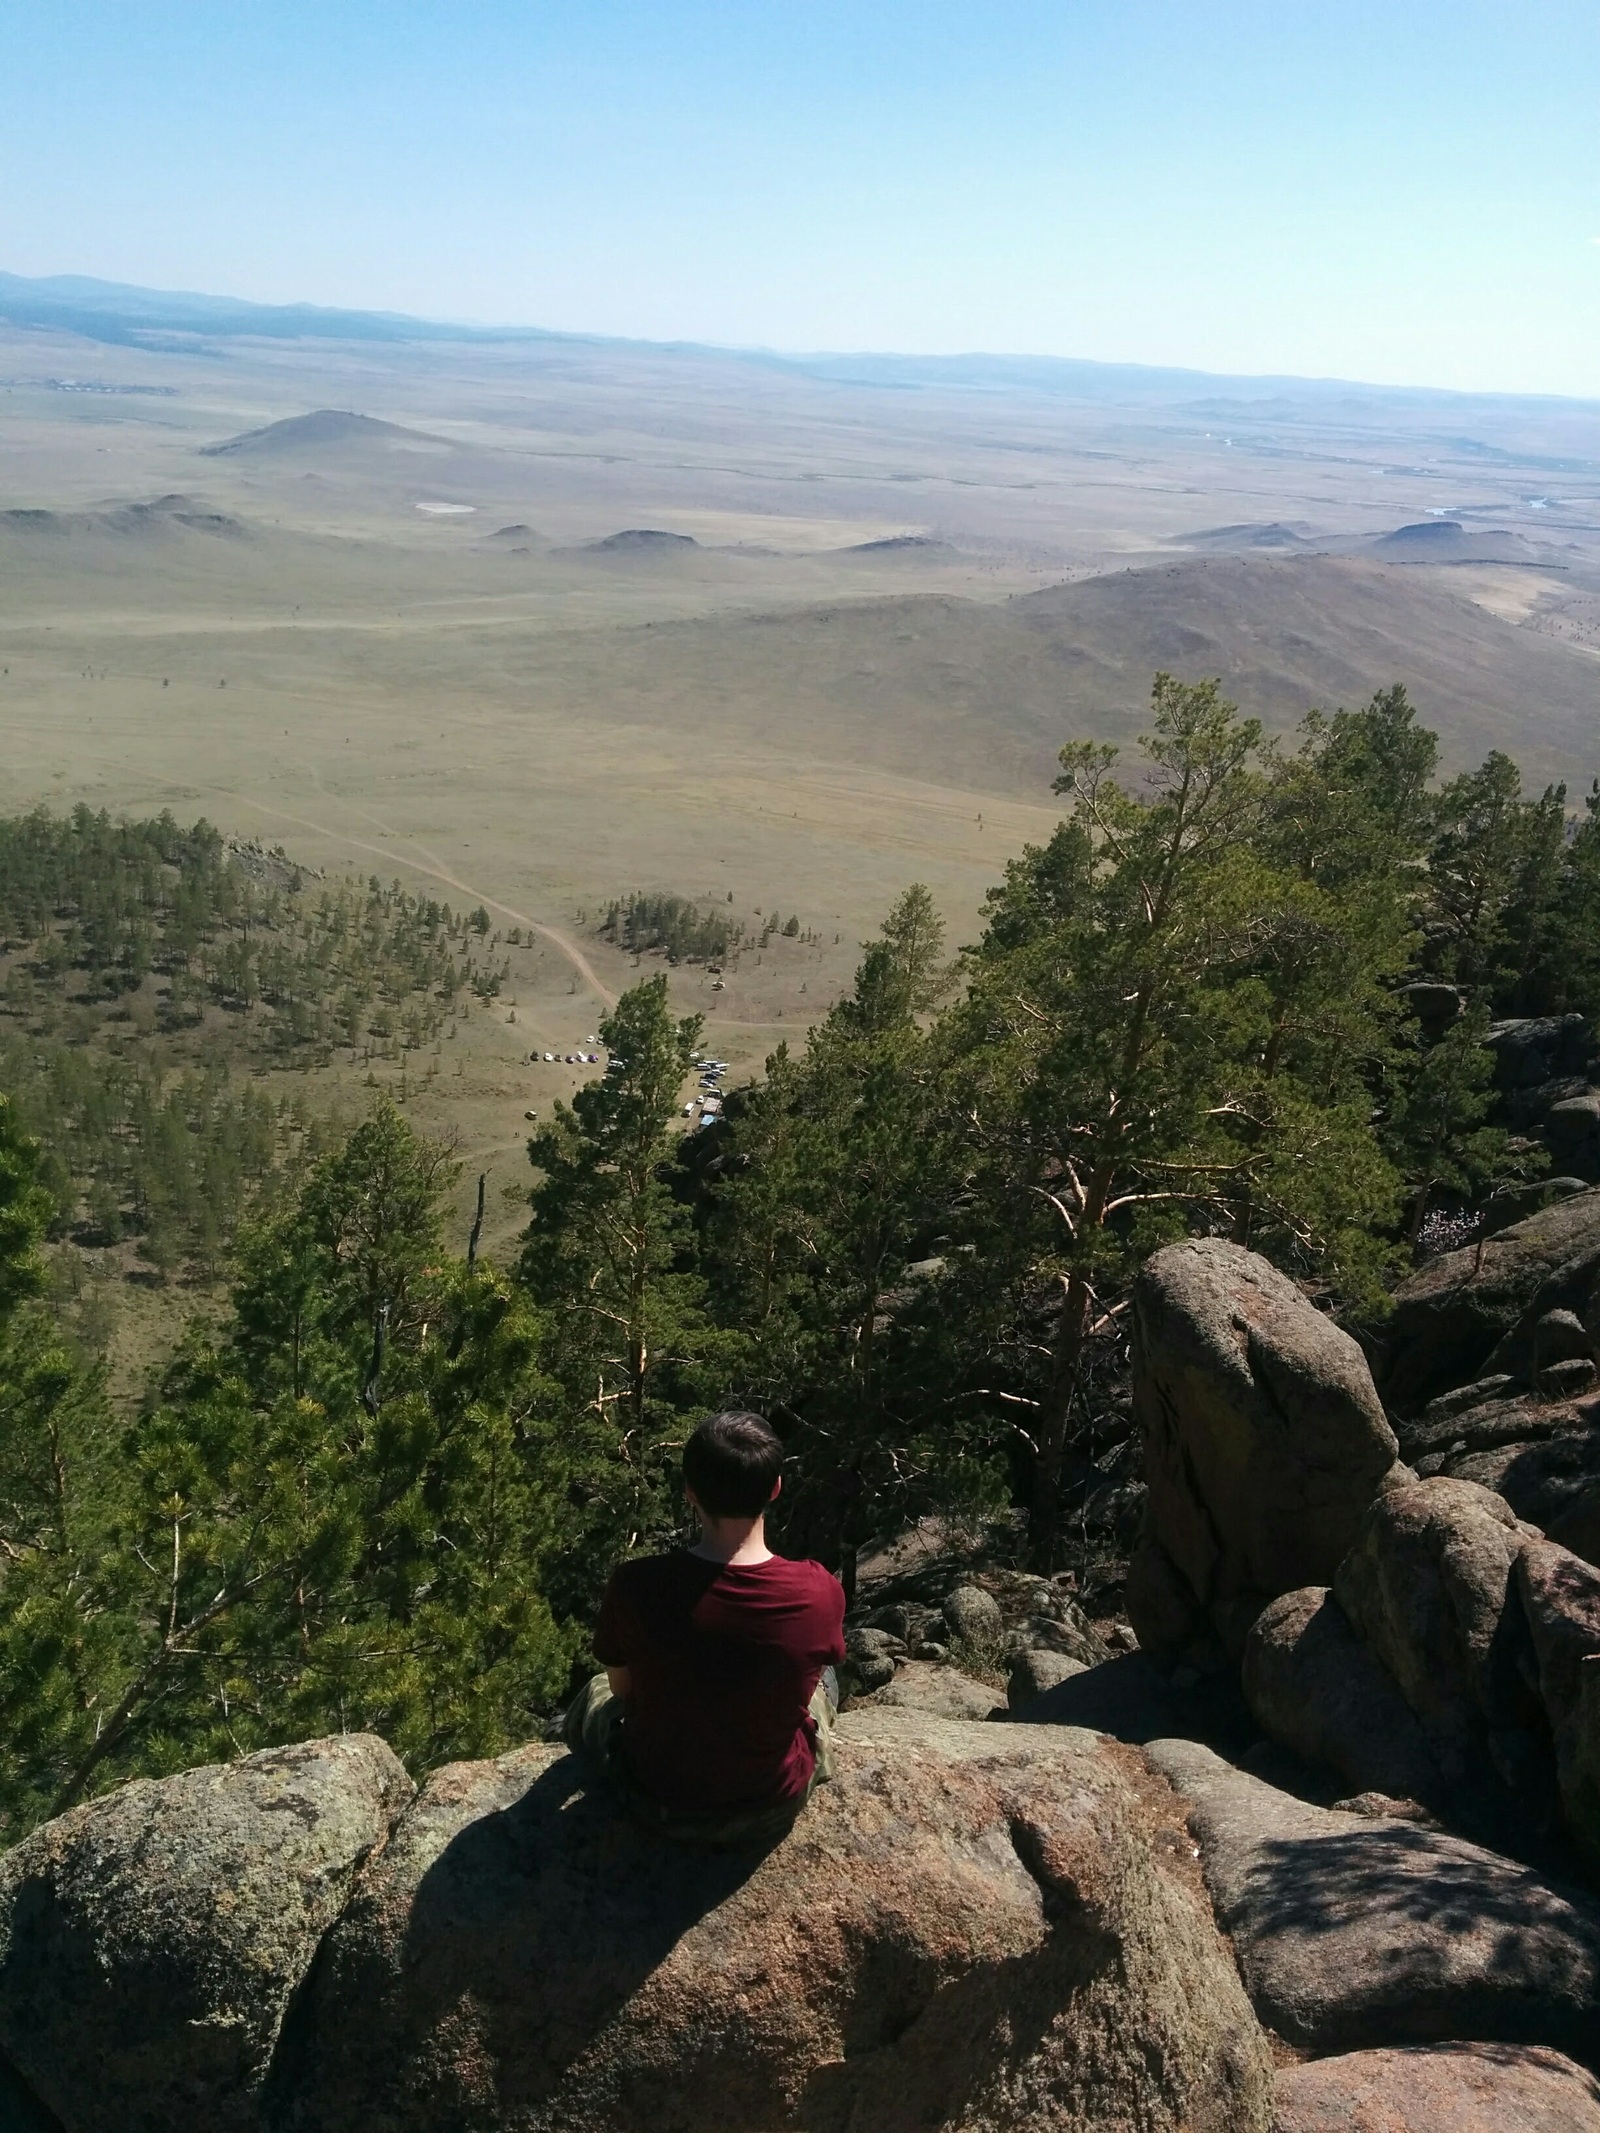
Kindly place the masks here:
POLYGON ((996 1493, 943 1406, 941 1299, 907 1280, 960 1177, 917 1020, 947 985, 941 953, 943 924, 917 883, 804 1056, 777 1052, 732 1107, 710 1216, 717 1305, 749 1342, 740 1386, 796 1457, 785 1540, 834 1563, 847 1589, 873 1534, 996 1493))

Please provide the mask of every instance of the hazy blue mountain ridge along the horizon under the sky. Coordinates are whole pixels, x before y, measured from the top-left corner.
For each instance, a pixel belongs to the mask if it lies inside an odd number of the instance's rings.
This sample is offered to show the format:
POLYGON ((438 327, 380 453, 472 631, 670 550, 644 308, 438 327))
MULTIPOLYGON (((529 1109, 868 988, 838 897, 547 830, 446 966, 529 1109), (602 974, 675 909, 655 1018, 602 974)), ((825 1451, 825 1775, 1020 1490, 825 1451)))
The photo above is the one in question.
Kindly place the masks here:
POLYGON ((1346 378, 1295 373, 1205 371, 1184 365, 1107 363, 1090 356, 1026 356, 971 350, 962 354, 905 354, 885 350, 774 350, 715 341, 646 339, 640 335, 572 333, 550 326, 482 326, 416 318, 405 311, 369 311, 314 303, 254 303, 196 290, 151 290, 96 275, 15 275, 0 269, 0 324, 75 333, 102 346, 162 352, 164 337, 192 339, 320 339, 320 341, 437 341, 657 350, 663 354, 719 356, 811 378, 819 384, 877 390, 1035 390, 1086 399, 1135 397, 1190 399, 1210 392, 1254 401, 1263 395, 1327 399, 1406 399, 1444 405, 1557 405, 1596 407, 1600 397, 1562 392, 1468 392, 1449 386, 1391 386, 1346 378))

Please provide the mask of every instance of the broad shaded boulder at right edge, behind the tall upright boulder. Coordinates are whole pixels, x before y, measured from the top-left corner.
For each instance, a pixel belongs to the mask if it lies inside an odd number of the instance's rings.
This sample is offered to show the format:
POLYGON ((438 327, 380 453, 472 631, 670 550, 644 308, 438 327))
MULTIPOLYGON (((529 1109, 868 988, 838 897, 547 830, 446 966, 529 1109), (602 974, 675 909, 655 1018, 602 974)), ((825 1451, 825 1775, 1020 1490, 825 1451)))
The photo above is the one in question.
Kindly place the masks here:
POLYGON ((1534 1327, 1553 1310, 1583 1316, 1596 1273, 1600 1190, 1429 1258, 1399 1284, 1374 1335, 1385 1401, 1414 1414, 1474 1378, 1532 1382, 1534 1327))

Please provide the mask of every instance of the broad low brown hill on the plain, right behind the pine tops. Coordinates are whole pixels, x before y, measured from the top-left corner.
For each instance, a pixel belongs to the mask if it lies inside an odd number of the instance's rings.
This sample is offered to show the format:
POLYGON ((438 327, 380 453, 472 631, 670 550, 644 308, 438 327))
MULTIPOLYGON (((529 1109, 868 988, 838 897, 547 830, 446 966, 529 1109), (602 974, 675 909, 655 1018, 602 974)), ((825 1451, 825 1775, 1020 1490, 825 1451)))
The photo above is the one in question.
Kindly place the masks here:
POLYGON ((1065 740, 1135 740, 1158 668, 1222 676, 1274 732, 1404 680, 1453 770, 1502 747, 1538 783, 1600 772, 1600 661, 1419 572, 1318 555, 572 631, 529 644, 518 702, 1041 798, 1065 740))

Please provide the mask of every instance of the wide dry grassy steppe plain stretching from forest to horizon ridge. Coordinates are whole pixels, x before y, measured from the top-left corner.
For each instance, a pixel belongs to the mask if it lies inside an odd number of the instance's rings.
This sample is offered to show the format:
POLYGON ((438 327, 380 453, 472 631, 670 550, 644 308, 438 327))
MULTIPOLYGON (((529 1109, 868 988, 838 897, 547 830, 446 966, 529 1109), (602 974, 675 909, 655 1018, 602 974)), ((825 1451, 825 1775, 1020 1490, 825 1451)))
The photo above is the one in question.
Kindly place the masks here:
POLYGON ((619 892, 815 930, 674 975, 742 1069, 907 881, 969 939, 1054 751, 1137 734, 1158 665, 1274 727, 1404 678, 1453 768, 1600 770, 1596 410, 6 328, 0 380, 0 806, 205 813, 542 928, 410 1090, 501 1246, 523 1113, 576 1079, 527 1054, 634 975, 619 892), (1429 514, 1515 561, 1374 550, 1429 514), (640 527, 693 546, 595 546, 640 527))

